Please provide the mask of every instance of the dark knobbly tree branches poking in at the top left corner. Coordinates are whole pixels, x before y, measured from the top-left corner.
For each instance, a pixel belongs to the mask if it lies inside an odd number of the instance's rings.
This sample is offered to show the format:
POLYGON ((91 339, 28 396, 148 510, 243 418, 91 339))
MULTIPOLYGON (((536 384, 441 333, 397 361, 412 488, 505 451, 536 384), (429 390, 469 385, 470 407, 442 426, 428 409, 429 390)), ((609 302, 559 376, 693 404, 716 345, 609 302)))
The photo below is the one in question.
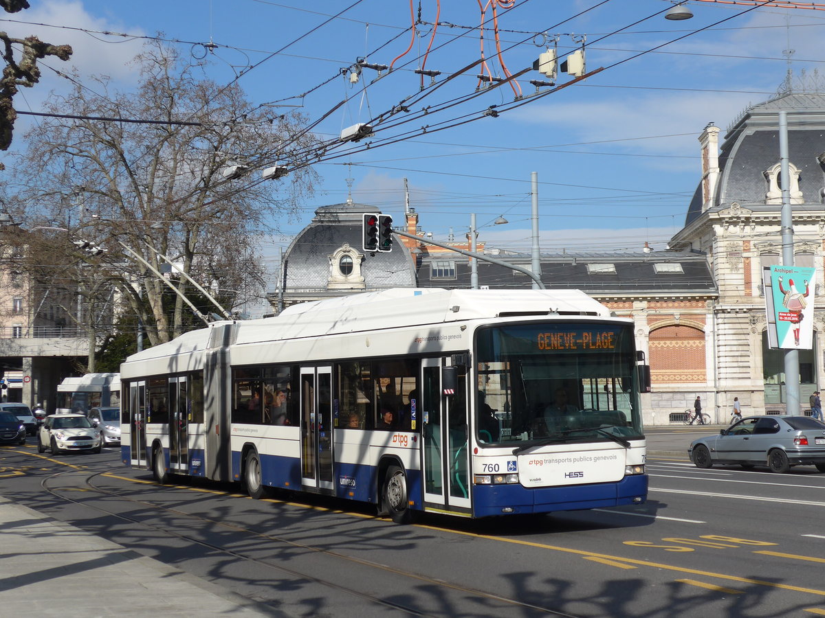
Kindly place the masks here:
MULTIPOLYGON (((0 0, 0 7, 8 13, 16 13, 29 8, 26 0, 0 0)), ((12 133, 17 112, 14 109, 14 96, 17 87, 31 88, 40 81, 40 68, 37 61, 46 56, 57 56, 61 60, 68 60, 72 55, 69 45, 53 45, 44 43, 36 36, 27 36, 25 39, 14 39, 5 32, 0 32, 0 41, 3 44, 3 68, 0 77, 0 150, 8 150, 12 145, 12 133), (15 57, 15 48, 20 47, 20 59, 15 57)), ((5 169, 0 163, 0 170, 5 169)))

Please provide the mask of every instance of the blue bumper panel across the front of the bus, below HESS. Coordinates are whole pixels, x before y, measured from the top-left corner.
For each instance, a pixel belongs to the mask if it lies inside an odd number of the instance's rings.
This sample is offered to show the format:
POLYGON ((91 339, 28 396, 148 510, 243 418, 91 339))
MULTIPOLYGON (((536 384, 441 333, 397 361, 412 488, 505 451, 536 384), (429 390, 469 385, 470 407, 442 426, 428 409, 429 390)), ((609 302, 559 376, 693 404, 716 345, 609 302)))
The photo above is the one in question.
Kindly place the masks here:
POLYGON ((582 508, 615 507, 639 504, 648 494, 648 475, 625 476, 618 483, 568 485, 526 489, 512 485, 474 485, 473 515, 488 517, 509 513, 552 513, 582 508), (508 508, 505 513, 502 509, 508 508))

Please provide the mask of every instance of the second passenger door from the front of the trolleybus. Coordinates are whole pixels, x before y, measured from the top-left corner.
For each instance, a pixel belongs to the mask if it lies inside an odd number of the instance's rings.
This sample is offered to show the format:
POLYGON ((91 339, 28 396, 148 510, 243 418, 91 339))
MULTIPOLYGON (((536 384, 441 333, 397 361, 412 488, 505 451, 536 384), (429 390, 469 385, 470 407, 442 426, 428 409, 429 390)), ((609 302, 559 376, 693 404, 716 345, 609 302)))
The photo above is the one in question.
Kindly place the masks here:
POLYGON ((302 483, 332 490, 332 367, 301 368, 300 398, 302 483))

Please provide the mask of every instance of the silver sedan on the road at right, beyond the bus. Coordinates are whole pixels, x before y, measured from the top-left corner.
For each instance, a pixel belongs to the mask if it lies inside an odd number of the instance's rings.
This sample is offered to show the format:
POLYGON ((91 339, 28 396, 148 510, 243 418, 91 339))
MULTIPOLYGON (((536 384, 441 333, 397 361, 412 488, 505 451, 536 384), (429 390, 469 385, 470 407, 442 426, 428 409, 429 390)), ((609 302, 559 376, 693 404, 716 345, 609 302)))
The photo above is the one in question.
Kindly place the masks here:
POLYGON ((748 416, 719 435, 695 439, 687 452, 697 468, 738 464, 787 472, 790 466, 816 466, 825 472, 825 423, 808 416, 748 416))

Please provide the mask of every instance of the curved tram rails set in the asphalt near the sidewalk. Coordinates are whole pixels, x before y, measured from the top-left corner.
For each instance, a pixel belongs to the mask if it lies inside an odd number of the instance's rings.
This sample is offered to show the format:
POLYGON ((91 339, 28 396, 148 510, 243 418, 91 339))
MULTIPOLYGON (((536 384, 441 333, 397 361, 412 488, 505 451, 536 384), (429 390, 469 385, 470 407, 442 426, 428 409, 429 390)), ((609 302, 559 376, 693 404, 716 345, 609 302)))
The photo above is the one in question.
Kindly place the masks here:
MULTIPOLYGON (((519 607, 519 608, 521 608, 523 610, 527 610, 527 611, 538 611, 538 612, 543 613, 547 616, 563 616, 564 618, 576 618, 576 616, 574 616, 572 614, 569 614, 569 613, 566 613, 566 612, 563 612, 563 611, 554 610, 554 609, 551 609, 549 607, 538 606, 538 605, 535 605, 535 604, 522 602, 522 601, 519 601, 517 599, 502 597, 501 595, 492 594, 490 592, 484 592, 483 590, 479 590, 477 588, 469 588, 469 587, 466 587, 466 586, 462 586, 460 584, 446 582, 442 579, 431 578, 431 577, 429 577, 425 574, 415 573, 413 571, 407 571, 407 570, 404 570, 404 569, 398 569, 398 567, 389 566, 388 564, 380 564, 378 562, 365 560, 365 559, 361 559, 361 558, 356 558, 354 556, 345 555, 345 554, 342 554, 342 553, 337 552, 337 551, 324 549, 323 547, 318 547, 318 546, 314 546, 314 545, 307 545, 305 543, 299 543, 299 542, 296 542, 296 541, 291 541, 290 539, 287 539, 283 536, 276 536, 276 535, 271 535, 271 534, 268 534, 268 533, 265 533, 265 532, 256 531, 256 530, 254 530, 250 527, 239 526, 238 524, 235 524, 235 523, 219 522, 219 521, 216 521, 216 520, 214 520, 210 517, 203 517, 203 516, 193 514, 193 513, 186 513, 184 511, 181 511, 180 509, 165 507, 165 506, 159 505, 157 503, 149 502, 145 499, 134 499, 134 498, 132 498, 128 495, 121 494, 121 493, 116 492, 116 491, 112 491, 111 489, 104 489, 104 488, 101 488, 99 485, 95 485, 93 480, 95 480, 97 477, 111 475, 111 471, 102 471, 102 472, 94 472, 94 473, 86 473, 85 471, 78 471, 78 470, 61 471, 61 472, 58 472, 58 473, 55 473, 53 475, 50 475, 50 476, 46 477, 40 483, 40 485, 43 487, 43 489, 45 489, 46 492, 48 492, 50 495, 54 496, 54 498, 56 498, 56 499, 61 499, 61 500, 64 500, 68 503, 76 504, 76 505, 78 505, 82 508, 92 508, 93 510, 97 511, 98 513, 103 513, 103 514, 105 514, 107 516, 110 516, 110 517, 117 517, 117 518, 119 518, 120 520, 122 520, 124 522, 128 522, 129 524, 133 524, 133 525, 137 525, 137 526, 140 526, 140 527, 148 528, 149 530, 158 532, 162 535, 174 536, 175 538, 179 539, 180 541, 184 541, 184 542, 189 543, 189 544, 198 545, 198 546, 200 546, 200 547, 202 547, 206 550, 210 550, 212 552, 219 552, 220 555, 227 555, 227 556, 230 556, 233 559, 244 560, 244 561, 247 561, 248 563, 255 564, 255 565, 260 566, 260 567, 265 567, 266 569, 274 569, 278 573, 284 574, 284 575, 289 576, 291 578, 296 578, 296 579, 299 579, 299 580, 303 580, 306 583, 316 584, 316 585, 323 586, 325 588, 329 588, 329 589, 337 591, 337 592, 342 592, 342 593, 345 593, 347 595, 351 595, 353 597, 358 597, 361 600, 373 603, 373 604, 378 605, 378 606, 384 606, 387 609, 394 609, 394 610, 398 610, 398 611, 404 611, 404 612, 406 612, 410 615, 413 615, 413 616, 442 616, 443 615, 443 614, 437 613, 437 612, 433 613, 433 612, 430 612, 430 611, 422 611, 421 609, 419 609, 417 607, 414 607, 414 606, 406 605, 406 604, 399 603, 399 602, 390 601, 386 598, 382 598, 382 597, 379 597, 375 594, 371 594, 370 592, 361 592, 361 591, 353 590, 351 587, 342 586, 340 583, 336 583, 334 581, 331 581, 328 578, 319 578, 319 577, 317 577, 313 574, 309 574, 309 573, 303 572, 303 571, 298 570, 298 569, 290 569, 290 568, 286 567, 284 564, 278 564, 278 563, 276 563, 272 560, 269 560, 269 559, 256 558, 256 557, 254 557, 252 555, 249 555, 247 553, 244 553, 242 551, 229 549, 228 547, 224 547, 224 546, 221 546, 221 545, 215 545, 214 543, 210 543, 209 541, 204 541, 202 539, 198 539, 198 538, 196 538, 194 536, 191 536, 189 534, 185 534, 185 533, 182 533, 180 531, 172 530, 171 527, 163 527, 163 526, 160 526, 156 523, 147 522, 147 521, 144 521, 144 520, 136 518, 136 517, 130 517, 129 515, 125 515, 123 513, 116 513, 115 511, 112 511, 112 510, 107 509, 107 508, 101 508, 101 506, 98 506, 96 504, 91 503, 91 501, 88 500, 88 499, 74 499, 73 497, 71 497, 69 495, 66 495, 67 491, 76 491, 78 489, 77 486, 63 487, 63 488, 50 486, 50 481, 56 480, 60 477, 66 477, 68 475, 73 475, 73 476, 82 475, 82 485, 83 486, 82 486, 81 489, 83 491, 93 491, 93 492, 96 492, 98 494, 111 496, 112 498, 123 500, 125 502, 131 503, 131 504, 134 504, 134 505, 139 505, 140 507, 150 508, 150 509, 154 509, 156 511, 163 511, 165 513, 169 513, 169 514, 171 514, 173 516, 176 516, 176 517, 186 517, 190 521, 194 520, 194 521, 197 521, 197 522, 200 522, 200 523, 203 523, 203 524, 209 524, 211 526, 224 527, 224 528, 227 528, 227 529, 229 529, 233 532, 236 532, 236 533, 242 533, 242 534, 249 535, 249 536, 251 536, 254 539, 259 540, 259 541, 263 540, 263 541, 267 541, 267 542, 270 542, 270 543, 288 545, 288 546, 290 546, 292 548, 295 548, 297 550, 303 550, 303 551, 306 551, 306 552, 313 552, 315 554, 324 555, 324 556, 327 556, 327 557, 332 558, 332 559, 343 560, 347 564, 349 564, 350 566, 357 565, 357 566, 365 568, 365 569, 375 569, 375 570, 378 570, 378 571, 380 571, 384 574, 394 575, 394 576, 398 576, 398 577, 401 577, 401 578, 408 578, 409 580, 412 580, 414 583, 417 583, 417 584, 425 584, 429 587, 436 587, 436 588, 443 589, 443 590, 450 590, 450 591, 454 591, 454 592, 460 592, 460 593, 464 593, 464 594, 473 595, 474 597, 481 597, 487 602, 501 603, 502 605, 506 605, 506 606, 516 606, 516 607, 519 607)), ((120 477, 117 477, 117 478, 120 478, 120 477)), ((154 484, 154 482, 152 482, 152 483, 154 484)), ((155 484, 155 485, 157 485, 157 484, 155 484)), ((158 486, 160 486, 160 485, 158 485, 158 486)), ((219 492, 219 493, 223 494, 224 492, 219 492)), ((240 494, 237 494, 237 495, 238 495, 238 497, 240 497, 240 494)), ((264 579, 264 578, 262 578, 262 579, 264 579)), ((367 578, 367 580, 369 581, 370 578, 367 578)), ((493 608, 491 607, 491 609, 493 609, 493 608)))

